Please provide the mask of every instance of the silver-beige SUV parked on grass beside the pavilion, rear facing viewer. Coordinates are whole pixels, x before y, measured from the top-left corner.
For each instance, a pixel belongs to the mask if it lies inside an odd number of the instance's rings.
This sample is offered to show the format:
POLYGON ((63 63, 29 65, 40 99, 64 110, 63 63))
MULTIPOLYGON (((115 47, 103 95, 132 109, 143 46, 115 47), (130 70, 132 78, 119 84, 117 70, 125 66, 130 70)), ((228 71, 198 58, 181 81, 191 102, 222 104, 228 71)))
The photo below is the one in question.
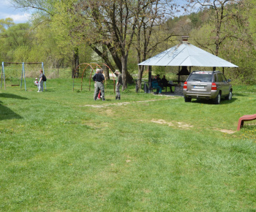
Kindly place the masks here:
POLYGON ((184 83, 183 94, 185 102, 191 99, 212 99, 219 105, 221 97, 232 99, 231 80, 227 80, 219 71, 195 71, 192 72, 184 83))

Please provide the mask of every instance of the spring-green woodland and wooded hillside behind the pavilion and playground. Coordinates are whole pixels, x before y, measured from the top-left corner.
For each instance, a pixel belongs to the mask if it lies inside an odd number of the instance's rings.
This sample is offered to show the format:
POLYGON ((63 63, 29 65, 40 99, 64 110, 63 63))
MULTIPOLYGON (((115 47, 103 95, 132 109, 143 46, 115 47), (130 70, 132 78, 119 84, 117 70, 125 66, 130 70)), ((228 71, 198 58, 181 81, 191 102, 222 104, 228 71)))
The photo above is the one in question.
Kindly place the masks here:
MULTIPOLYGON (((214 0, 12 0, 32 12, 29 23, 0 20, 0 58, 5 62, 44 62, 45 69, 70 69, 80 63, 107 64, 123 74, 124 89, 147 67, 141 61, 181 42, 224 58, 234 83, 254 84, 256 1, 214 0), (183 2, 183 1, 182 1, 183 2)), ((108 69, 105 69, 108 75, 108 69)), ((176 69, 154 67, 155 73, 176 69)))

